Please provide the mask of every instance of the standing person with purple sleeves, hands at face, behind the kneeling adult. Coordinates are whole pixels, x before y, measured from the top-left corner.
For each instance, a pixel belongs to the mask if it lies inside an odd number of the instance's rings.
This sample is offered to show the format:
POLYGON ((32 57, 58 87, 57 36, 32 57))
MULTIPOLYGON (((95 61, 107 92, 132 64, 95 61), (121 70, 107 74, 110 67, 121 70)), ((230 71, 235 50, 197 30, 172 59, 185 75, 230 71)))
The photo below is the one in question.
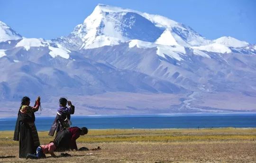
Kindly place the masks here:
POLYGON ((60 98, 59 103, 57 115, 49 131, 49 136, 54 136, 55 131, 58 133, 71 125, 70 115, 74 114, 75 107, 72 105, 71 101, 65 98, 60 98), (67 104, 69 107, 66 107, 67 104))

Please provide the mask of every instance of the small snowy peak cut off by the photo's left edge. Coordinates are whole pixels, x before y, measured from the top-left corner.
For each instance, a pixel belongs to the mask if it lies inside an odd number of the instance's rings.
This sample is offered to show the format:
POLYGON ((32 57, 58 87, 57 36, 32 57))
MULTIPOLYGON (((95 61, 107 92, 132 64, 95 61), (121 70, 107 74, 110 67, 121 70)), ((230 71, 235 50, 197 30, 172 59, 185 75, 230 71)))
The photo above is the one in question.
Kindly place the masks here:
POLYGON ((0 21, 0 42, 8 41, 8 40, 18 40, 22 38, 16 31, 11 29, 4 22, 0 21))

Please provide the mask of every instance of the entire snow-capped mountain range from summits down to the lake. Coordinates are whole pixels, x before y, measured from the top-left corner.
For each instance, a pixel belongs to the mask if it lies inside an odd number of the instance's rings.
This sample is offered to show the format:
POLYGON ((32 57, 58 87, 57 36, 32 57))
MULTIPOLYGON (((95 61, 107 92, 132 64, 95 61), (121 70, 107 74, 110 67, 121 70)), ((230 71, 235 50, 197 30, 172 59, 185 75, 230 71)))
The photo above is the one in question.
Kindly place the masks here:
POLYGON ((68 36, 25 38, 2 22, 0 32, 0 101, 69 96, 88 114, 256 111, 256 45, 230 36, 102 4, 68 36))

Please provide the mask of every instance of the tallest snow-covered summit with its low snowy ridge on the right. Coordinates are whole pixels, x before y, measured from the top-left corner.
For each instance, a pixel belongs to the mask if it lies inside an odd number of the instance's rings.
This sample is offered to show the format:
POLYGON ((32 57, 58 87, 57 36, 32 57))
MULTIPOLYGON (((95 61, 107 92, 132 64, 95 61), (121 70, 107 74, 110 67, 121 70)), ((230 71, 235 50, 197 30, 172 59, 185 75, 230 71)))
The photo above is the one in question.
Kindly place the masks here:
POLYGON ((75 51, 119 45, 129 40, 192 47, 216 53, 229 53, 229 47, 248 45, 247 42, 226 36, 209 40, 191 27, 164 16, 104 4, 98 4, 69 36, 55 40, 55 43, 75 51))

